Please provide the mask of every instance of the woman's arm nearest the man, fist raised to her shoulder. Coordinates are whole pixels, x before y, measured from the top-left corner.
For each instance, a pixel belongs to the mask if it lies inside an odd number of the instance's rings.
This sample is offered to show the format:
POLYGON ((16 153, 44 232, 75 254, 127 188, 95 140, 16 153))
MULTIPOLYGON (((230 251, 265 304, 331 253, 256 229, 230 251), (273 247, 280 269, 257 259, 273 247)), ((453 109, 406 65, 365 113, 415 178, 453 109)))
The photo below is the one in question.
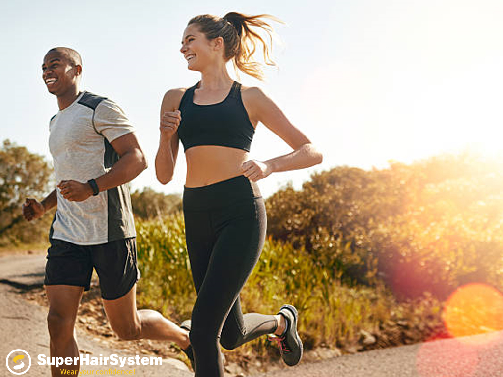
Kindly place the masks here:
POLYGON ((181 117, 178 107, 185 89, 172 89, 166 92, 160 107, 160 139, 155 155, 155 175, 166 184, 173 178, 178 156, 178 126, 181 117))

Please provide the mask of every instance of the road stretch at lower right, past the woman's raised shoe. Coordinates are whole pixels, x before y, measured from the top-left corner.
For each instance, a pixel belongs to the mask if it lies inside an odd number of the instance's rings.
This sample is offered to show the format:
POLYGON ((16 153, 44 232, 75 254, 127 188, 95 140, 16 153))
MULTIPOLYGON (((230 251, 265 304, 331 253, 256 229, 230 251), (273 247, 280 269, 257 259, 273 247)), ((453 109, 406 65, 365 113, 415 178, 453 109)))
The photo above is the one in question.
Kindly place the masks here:
POLYGON ((253 377, 501 377, 503 332, 380 349, 253 377))

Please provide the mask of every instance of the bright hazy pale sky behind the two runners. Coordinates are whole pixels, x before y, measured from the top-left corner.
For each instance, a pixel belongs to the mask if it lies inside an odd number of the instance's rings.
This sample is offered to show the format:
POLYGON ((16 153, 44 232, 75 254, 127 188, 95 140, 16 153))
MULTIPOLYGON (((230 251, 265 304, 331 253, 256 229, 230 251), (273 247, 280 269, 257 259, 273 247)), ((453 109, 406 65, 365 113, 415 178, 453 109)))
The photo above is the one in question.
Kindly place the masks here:
MULTIPOLYGON (((58 108, 41 64, 50 48, 72 47, 83 60, 81 88, 117 102, 137 129, 150 167, 133 189, 182 193, 183 149, 173 181, 155 179, 160 102, 170 88, 199 80, 179 51, 188 20, 231 11, 285 22, 273 25, 278 67, 266 69, 265 82, 239 80, 260 86, 324 157, 261 180, 264 196, 341 165, 384 168, 391 160, 502 149, 500 0, 3 1, 0 140, 52 160, 48 123, 58 108)), ((251 158, 288 152, 259 124, 251 158)))

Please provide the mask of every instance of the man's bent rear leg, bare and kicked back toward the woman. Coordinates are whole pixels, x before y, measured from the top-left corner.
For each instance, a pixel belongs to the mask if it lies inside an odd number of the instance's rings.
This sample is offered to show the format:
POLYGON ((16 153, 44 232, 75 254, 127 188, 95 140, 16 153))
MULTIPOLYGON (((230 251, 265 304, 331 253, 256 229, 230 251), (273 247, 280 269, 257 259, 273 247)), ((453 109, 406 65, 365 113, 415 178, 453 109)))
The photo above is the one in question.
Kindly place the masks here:
POLYGON ((121 298, 103 300, 110 326, 121 339, 156 339, 177 343, 186 349, 189 333, 155 310, 136 310, 136 284, 121 298))

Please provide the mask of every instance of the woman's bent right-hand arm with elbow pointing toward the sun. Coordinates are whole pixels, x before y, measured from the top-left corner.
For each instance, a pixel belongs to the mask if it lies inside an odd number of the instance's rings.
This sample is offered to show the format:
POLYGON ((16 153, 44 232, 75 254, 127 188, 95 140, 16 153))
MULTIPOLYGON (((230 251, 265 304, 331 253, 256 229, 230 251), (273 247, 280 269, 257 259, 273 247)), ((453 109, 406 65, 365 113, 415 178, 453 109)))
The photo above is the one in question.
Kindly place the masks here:
POLYGON ((262 122, 282 138, 293 152, 267 161, 246 161, 243 174, 251 180, 265 178, 272 172, 303 169, 321 163, 323 156, 311 141, 285 117, 276 104, 258 87, 243 90, 243 104, 253 124, 262 122))

